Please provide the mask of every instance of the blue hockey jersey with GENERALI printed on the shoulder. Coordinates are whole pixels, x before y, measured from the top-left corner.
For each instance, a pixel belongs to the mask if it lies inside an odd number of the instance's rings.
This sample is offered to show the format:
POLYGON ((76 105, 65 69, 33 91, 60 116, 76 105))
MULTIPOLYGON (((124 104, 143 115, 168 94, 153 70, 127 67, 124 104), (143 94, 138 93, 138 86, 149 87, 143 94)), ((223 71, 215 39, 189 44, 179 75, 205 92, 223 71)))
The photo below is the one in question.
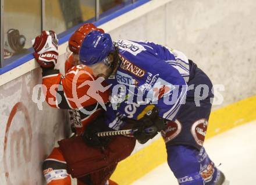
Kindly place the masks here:
POLYGON ((189 60, 180 51, 152 42, 118 40, 120 65, 107 80, 112 84, 111 104, 106 122, 115 130, 123 118, 139 119, 149 105, 157 106, 159 116, 174 120, 186 98, 189 60))

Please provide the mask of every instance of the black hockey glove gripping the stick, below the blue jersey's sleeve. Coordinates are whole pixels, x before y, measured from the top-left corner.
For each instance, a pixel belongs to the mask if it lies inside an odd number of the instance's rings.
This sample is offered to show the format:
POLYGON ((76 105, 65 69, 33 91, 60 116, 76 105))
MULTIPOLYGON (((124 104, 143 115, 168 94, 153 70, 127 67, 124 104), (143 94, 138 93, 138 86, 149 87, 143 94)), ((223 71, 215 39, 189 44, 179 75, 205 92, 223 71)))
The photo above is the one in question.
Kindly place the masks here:
POLYGON ((158 131, 163 130, 165 126, 165 120, 158 116, 158 108, 155 107, 152 111, 148 111, 143 118, 136 120, 133 126, 133 136, 138 143, 144 144, 155 137, 158 131))

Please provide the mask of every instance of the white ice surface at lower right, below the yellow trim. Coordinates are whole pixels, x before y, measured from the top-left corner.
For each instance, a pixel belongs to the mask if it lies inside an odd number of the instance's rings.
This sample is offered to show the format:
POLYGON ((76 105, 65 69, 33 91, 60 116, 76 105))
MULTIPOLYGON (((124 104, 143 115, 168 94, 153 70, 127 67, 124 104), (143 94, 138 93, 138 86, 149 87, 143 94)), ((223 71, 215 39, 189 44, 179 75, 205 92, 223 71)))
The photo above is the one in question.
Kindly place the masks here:
MULTIPOLYGON (((256 184, 256 120, 206 140, 204 147, 230 185, 256 184)), ((177 185, 167 163, 132 185, 177 185)))

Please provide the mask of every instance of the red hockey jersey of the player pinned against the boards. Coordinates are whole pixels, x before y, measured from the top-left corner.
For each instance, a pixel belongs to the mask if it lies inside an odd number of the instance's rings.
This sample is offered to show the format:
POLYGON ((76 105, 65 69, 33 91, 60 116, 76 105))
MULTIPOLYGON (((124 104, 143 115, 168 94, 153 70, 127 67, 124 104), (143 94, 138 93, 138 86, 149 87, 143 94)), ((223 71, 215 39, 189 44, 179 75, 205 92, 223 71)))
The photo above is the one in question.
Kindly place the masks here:
MULTIPOLYGON (((69 109, 70 121, 76 127, 77 134, 81 134, 84 126, 101 112, 102 108, 98 102, 108 102, 109 91, 94 92, 101 97, 98 101, 91 97, 90 88, 98 88, 93 87, 97 86, 97 83, 91 82, 97 78, 88 66, 73 65, 73 61, 73 55, 70 55, 65 62, 65 76, 57 69, 43 69, 42 84, 47 87, 44 92, 47 103, 54 108, 69 109)), ((106 86, 104 82, 101 85, 106 86)))

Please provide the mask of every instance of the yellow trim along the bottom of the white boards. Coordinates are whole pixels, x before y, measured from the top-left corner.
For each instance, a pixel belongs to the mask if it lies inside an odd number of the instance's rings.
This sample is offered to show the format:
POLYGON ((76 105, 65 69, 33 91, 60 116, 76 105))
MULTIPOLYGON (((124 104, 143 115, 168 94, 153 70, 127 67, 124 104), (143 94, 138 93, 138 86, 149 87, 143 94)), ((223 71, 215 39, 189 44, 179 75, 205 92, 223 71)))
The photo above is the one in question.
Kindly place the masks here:
MULTIPOLYGON (((207 138, 256 119, 256 95, 230 104, 211 113, 207 138)), ((152 169, 166 162, 162 138, 119 162, 111 179, 119 185, 128 185, 152 169)))

